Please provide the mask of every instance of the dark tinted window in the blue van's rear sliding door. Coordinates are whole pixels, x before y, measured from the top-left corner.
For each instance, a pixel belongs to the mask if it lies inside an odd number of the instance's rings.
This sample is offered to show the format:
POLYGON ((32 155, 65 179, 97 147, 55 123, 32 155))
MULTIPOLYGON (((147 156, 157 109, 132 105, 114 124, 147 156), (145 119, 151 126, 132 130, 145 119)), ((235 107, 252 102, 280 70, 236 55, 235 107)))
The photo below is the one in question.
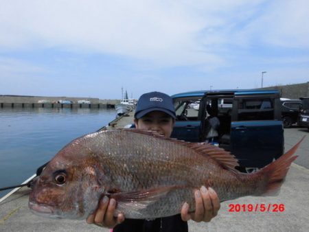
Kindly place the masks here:
POLYGON ((238 101, 238 121, 273 120, 273 100, 240 99, 238 101))

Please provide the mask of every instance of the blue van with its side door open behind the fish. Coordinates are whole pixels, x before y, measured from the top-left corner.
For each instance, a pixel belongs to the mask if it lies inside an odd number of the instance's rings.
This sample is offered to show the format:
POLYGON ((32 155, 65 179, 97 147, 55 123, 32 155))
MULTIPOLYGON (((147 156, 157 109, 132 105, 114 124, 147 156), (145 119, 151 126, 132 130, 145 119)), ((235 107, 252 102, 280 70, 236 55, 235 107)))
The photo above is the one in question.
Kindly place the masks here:
POLYGON ((251 172, 278 159, 284 152, 284 128, 277 90, 192 91, 172 95, 176 122, 172 136, 191 142, 207 141, 208 106, 220 121, 218 141, 238 159, 238 170, 251 172), (228 100, 226 110, 220 107, 228 100), (199 110, 189 107, 200 101, 199 110), (208 105, 208 106, 207 106, 208 105))

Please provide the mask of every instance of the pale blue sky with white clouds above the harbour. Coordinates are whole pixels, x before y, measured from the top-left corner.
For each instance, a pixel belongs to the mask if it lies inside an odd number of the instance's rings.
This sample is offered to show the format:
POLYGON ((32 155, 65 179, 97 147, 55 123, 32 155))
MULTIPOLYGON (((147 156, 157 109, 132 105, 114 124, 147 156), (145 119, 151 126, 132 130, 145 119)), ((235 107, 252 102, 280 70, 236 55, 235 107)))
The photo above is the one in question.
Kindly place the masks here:
POLYGON ((309 81, 307 0, 0 0, 0 95, 119 99, 309 81))

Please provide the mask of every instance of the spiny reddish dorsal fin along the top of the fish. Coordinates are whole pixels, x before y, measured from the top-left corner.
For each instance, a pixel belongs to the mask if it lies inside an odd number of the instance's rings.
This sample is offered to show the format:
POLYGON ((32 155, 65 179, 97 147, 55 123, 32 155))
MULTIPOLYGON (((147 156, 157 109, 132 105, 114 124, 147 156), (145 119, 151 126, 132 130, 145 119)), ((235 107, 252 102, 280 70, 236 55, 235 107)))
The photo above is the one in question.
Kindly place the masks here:
POLYGON ((143 135, 150 135, 152 137, 169 140, 182 146, 186 146, 187 148, 191 148, 198 154, 211 157, 211 159, 214 159, 218 164, 220 164, 225 169, 237 171, 235 167, 239 165, 238 160, 230 152, 227 152, 222 148, 218 148, 217 146, 213 146, 209 143, 190 143, 178 139, 170 139, 164 137, 164 135, 161 135, 153 130, 140 130, 140 129, 122 129, 122 130, 135 132, 143 135))

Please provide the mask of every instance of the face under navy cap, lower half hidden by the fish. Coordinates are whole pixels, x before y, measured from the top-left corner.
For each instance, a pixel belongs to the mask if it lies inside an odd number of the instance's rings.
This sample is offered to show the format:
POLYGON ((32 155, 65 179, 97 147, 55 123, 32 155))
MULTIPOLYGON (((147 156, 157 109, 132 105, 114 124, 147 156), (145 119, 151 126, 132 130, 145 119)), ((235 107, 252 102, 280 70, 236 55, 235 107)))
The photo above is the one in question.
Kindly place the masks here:
POLYGON ((137 129, 155 130, 169 138, 174 127, 174 119, 162 111, 152 111, 140 119, 135 119, 135 127, 137 129))

